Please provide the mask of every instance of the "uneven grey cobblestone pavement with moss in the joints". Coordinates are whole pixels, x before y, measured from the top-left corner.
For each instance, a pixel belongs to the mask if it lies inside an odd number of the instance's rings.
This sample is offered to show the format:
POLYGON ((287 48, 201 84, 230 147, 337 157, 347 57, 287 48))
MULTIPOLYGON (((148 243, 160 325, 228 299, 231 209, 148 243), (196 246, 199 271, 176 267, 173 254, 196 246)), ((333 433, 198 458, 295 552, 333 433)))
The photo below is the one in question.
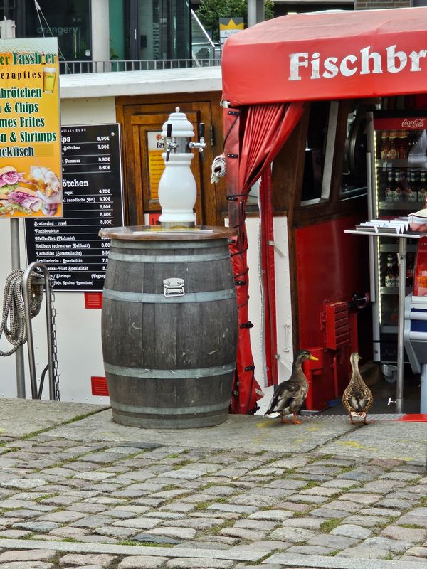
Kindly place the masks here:
POLYGON ((419 461, 54 431, 0 443, 0 569, 427 569, 419 461))

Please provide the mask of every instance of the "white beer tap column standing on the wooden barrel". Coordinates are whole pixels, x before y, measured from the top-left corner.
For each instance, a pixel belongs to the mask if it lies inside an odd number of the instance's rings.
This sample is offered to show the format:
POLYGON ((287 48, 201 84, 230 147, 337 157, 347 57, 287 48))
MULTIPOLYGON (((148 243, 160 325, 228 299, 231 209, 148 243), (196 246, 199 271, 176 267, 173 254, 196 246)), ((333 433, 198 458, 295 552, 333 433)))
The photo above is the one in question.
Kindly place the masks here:
POLYGON ((193 125, 184 112, 169 115, 162 127, 164 137, 164 171, 159 181, 159 203, 162 215, 159 221, 164 228, 191 228, 196 224, 194 204, 196 203, 196 180, 191 172, 193 153, 191 148, 203 151, 204 125, 200 125, 200 141, 190 142, 194 137, 193 125))

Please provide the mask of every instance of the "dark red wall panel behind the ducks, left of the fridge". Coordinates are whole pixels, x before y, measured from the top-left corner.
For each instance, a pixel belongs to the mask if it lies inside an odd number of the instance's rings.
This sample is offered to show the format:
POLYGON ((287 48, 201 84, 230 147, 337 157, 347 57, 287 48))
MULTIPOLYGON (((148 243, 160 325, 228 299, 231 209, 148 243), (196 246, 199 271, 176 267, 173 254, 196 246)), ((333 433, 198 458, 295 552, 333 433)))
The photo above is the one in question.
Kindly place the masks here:
POLYGON ((350 341, 327 349, 326 304, 350 302, 354 293, 369 291, 368 240, 347 235, 360 222, 349 216, 295 230, 300 348, 322 348, 323 368, 312 384, 312 408, 320 410, 341 395, 348 382, 350 341))

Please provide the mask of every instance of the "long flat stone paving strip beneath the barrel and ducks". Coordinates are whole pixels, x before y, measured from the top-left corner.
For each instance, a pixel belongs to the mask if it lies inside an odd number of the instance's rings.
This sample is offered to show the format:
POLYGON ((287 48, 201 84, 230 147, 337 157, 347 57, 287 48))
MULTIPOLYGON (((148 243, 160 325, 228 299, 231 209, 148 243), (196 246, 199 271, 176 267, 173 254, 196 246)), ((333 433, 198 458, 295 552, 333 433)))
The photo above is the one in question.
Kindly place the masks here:
POLYGON ((72 425, 60 425, 49 434, 80 440, 96 440, 102 435, 110 442, 143 440, 167 445, 188 441, 194 446, 221 449, 237 449, 244 442, 247 450, 339 455, 351 450, 362 457, 426 461, 427 423, 377 420, 370 425, 350 425, 345 416, 310 416, 302 417, 302 421, 302 425, 283 425, 277 419, 258 415, 229 415, 222 425, 204 429, 138 429, 115 423, 107 409, 72 425))

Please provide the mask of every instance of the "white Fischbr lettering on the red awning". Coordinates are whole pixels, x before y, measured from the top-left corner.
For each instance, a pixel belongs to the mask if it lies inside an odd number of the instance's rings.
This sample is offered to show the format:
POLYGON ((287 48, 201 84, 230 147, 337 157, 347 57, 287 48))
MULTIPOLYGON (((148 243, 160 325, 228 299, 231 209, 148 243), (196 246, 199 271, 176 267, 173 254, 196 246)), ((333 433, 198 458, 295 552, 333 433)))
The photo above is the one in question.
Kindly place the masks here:
MULTIPOLYGON (((370 75, 371 73, 400 73, 408 65, 409 70, 416 73, 421 71, 421 59, 426 58, 427 49, 406 53, 396 50, 397 46, 388 46, 385 53, 370 51, 370 46, 362 48, 358 55, 349 53, 342 58, 329 56, 321 58, 319 52, 290 53, 290 81, 299 81, 302 78, 332 79, 338 75, 350 77, 370 75), (310 74, 310 75, 309 75, 310 74)), ((427 65, 426 65, 427 68, 427 65)))

